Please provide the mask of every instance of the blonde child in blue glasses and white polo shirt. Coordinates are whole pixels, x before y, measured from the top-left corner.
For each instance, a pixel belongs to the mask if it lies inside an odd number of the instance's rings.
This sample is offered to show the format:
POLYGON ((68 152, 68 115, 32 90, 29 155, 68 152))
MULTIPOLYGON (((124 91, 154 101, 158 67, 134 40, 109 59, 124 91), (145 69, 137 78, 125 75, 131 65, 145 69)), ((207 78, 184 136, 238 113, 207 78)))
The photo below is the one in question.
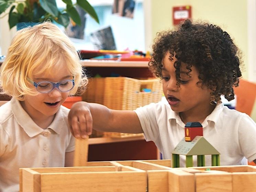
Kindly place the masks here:
POLYGON ((69 38, 51 22, 17 32, 1 70, 0 191, 19 191, 19 168, 73 166, 69 109, 87 83, 69 38))

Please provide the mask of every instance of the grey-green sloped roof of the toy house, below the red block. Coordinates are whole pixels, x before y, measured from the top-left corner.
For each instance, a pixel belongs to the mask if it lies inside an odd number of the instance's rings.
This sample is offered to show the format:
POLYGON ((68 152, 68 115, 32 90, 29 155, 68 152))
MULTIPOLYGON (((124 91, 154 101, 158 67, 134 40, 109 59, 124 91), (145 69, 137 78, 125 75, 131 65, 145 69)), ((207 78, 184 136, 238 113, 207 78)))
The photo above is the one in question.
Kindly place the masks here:
POLYGON ((177 155, 220 155, 203 136, 196 136, 191 142, 183 138, 171 152, 177 155))

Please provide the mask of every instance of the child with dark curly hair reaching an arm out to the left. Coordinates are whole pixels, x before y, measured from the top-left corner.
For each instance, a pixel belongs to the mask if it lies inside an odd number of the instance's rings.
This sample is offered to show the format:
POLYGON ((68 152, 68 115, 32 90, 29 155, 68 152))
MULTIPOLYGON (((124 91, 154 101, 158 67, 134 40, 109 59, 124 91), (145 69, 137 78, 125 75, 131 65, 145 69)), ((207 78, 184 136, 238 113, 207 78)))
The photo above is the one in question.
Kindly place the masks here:
MULTIPOLYGON (((200 122, 204 138, 221 154, 220 165, 242 165, 246 159, 256 162, 255 122, 221 103, 221 95, 228 101, 234 99, 240 62, 238 48, 227 32, 216 25, 186 20, 177 31, 158 33, 149 61, 149 68, 162 79, 167 102, 134 111, 76 103, 69 114, 73 133, 83 137, 92 128, 144 133, 164 159, 171 159, 171 151, 184 137, 185 124, 200 122)), ((180 166, 185 166, 185 156, 180 158, 180 166)), ((211 165, 211 156, 205 156, 205 165, 211 165)))

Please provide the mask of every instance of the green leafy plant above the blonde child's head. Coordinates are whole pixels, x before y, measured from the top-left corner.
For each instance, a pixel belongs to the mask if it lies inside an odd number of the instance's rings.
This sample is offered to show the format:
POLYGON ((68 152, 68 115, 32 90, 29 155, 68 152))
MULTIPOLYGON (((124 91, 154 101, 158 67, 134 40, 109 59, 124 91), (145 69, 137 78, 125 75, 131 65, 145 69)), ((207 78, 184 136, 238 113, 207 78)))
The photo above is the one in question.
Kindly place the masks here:
POLYGON ((57 8, 55 0, 0 0, 0 14, 11 7, 7 13, 10 29, 19 22, 42 22, 46 19, 67 27, 70 18, 76 24, 81 24, 81 18, 75 7, 80 6, 99 23, 95 10, 87 0, 77 0, 75 4, 71 0, 62 1, 66 4, 66 9, 63 10, 57 8))

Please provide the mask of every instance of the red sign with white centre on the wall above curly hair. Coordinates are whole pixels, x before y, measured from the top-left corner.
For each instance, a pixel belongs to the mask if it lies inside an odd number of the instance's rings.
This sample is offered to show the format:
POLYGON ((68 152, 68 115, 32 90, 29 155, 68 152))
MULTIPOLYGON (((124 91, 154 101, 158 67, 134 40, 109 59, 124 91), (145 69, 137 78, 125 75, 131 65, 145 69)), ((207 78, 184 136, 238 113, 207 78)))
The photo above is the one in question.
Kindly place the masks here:
POLYGON ((190 5, 172 8, 172 19, 174 25, 177 25, 180 21, 186 20, 188 18, 191 18, 190 5))

